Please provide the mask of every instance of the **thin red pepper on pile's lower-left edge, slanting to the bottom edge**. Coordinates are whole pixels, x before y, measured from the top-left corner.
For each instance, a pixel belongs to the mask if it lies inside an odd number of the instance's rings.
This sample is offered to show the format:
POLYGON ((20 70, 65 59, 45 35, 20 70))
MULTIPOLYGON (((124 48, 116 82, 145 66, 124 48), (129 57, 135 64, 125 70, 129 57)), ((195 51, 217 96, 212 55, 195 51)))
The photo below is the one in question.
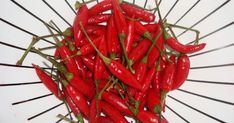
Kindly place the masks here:
POLYGON ((72 98, 69 96, 69 94, 66 92, 66 90, 64 90, 64 94, 65 94, 65 100, 66 100, 68 106, 70 107, 71 111, 75 115, 75 117, 81 123, 84 123, 84 119, 83 119, 83 116, 82 116, 82 114, 80 112, 80 109, 76 106, 76 104, 74 103, 74 101, 72 100, 72 98))

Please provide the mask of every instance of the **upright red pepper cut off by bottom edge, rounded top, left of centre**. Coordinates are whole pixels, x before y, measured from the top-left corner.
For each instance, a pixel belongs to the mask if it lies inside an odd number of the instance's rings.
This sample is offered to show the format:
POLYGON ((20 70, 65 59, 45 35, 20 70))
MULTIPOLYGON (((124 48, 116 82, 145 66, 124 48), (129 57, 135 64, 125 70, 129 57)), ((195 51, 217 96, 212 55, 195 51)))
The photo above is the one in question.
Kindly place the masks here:
POLYGON ((98 122, 98 117, 100 116, 101 113, 101 105, 99 104, 99 100, 94 98, 90 104, 90 118, 89 122, 90 123, 99 123, 98 122), (98 102, 97 102, 98 101, 98 102))

